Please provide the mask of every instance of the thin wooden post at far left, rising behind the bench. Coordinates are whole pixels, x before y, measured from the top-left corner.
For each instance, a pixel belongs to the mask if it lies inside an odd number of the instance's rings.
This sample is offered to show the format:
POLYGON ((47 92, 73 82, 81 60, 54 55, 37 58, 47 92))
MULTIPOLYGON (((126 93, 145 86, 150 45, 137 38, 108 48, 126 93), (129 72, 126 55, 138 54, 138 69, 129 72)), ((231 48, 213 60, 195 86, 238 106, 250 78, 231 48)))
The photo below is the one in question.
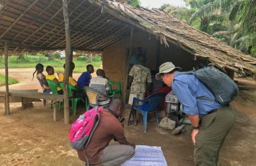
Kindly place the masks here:
POLYGON ((9 103, 9 82, 8 82, 8 45, 7 42, 4 46, 5 52, 5 84, 6 84, 6 99, 5 99, 5 112, 10 114, 10 103, 9 103))

